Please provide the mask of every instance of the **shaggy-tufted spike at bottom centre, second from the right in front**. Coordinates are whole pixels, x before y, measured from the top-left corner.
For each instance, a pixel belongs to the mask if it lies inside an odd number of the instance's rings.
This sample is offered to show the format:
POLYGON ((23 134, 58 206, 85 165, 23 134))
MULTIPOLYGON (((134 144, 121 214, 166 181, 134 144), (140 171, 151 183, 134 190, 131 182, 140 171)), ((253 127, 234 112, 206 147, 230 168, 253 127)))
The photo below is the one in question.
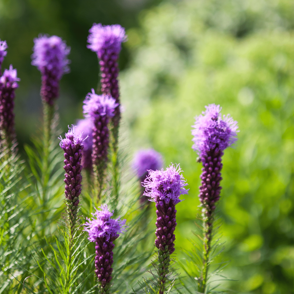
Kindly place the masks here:
POLYGON ((175 250, 174 230, 176 228, 176 204, 181 202, 181 194, 188 194, 186 180, 180 174, 179 165, 170 165, 165 171, 149 171, 149 176, 144 181, 146 192, 144 195, 151 197, 156 203, 156 240, 158 248, 158 290, 163 294, 166 290, 165 283, 168 279, 170 254, 175 250))

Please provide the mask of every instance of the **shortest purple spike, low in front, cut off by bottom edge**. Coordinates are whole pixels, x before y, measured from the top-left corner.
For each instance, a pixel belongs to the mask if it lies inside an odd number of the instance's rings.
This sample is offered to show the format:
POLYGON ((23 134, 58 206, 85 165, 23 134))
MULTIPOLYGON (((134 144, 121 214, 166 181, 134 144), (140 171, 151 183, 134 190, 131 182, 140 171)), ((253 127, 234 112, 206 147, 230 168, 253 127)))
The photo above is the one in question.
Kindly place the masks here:
POLYGON ((93 213, 92 220, 87 219, 89 222, 84 224, 84 230, 89 234, 88 239, 96 242, 95 273, 99 280, 99 293, 108 294, 113 270, 113 241, 118 238, 119 233, 126 231, 126 220, 112 219, 113 214, 107 210, 107 205, 101 206, 101 209, 93 213))

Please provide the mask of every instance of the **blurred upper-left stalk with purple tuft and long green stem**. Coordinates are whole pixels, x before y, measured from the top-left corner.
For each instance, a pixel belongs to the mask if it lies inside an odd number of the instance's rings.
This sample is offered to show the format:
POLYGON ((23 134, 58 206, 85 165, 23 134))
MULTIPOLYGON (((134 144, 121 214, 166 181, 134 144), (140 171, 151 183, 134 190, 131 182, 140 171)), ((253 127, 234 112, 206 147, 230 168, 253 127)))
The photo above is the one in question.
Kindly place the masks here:
MULTIPOLYGON (((41 98, 43 102, 43 171, 42 185, 44 188, 43 198, 49 180, 47 171, 49 166, 49 145, 51 141, 51 123, 54 116, 54 101, 59 96, 59 81, 63 74, 69 72, 69 60, 67 56, 70 47, 58 36, 39 36, 34 39, 34 53, 31 64, 36 66, 41 72, 41 98)), ((44 199, 43 199, 44 200, 44 199)))

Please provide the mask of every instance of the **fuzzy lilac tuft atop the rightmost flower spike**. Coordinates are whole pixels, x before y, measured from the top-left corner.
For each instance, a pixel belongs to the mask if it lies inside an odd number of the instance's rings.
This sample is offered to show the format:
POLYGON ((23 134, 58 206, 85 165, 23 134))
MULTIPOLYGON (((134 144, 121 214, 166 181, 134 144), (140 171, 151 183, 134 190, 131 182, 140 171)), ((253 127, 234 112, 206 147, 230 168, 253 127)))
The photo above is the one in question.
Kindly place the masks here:
POLYGON ((195 125, 192 127, 194 142, 192 148, 201 155, 207 150, 218 147, 221 151, 237 141, 237 121, 228 114, 221 116, 219 105, 210 104, 205 106, 200 116, 196 116, 195 125))

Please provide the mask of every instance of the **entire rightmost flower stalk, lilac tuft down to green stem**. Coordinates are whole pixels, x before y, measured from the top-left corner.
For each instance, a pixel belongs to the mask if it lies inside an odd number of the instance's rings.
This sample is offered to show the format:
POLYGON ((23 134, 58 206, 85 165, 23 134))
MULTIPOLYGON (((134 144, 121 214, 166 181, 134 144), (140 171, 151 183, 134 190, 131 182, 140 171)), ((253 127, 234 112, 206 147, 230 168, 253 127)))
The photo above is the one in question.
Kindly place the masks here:
POLYGON ((203 115, 197 116, 193 125, 193 149, 198 152, 203 168, 199 199, 203 220, 203 267, 198 279, 198 291, 206 293, 211 253, 213 221, 216 202, 220 198, 221 163, 223 151, 237 141, 237 122, 229 115, 221 116, 221 107, 210 104, 203 115))

